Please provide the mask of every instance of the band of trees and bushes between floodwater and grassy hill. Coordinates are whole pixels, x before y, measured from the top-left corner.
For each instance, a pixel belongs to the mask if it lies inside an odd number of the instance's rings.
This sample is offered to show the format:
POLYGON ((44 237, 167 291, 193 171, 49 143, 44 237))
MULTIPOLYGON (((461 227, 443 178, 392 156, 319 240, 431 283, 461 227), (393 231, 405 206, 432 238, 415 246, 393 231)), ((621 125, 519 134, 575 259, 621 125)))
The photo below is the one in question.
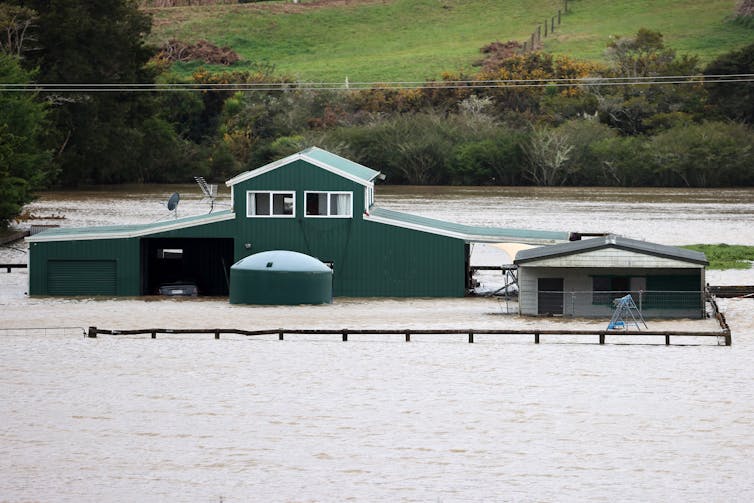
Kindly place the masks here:
MULTIPOLYGON (((186 83, 146 44, 131 0, 0 4, 0 84, 186 83)), ((504 44, 498 44, 503 46, 504 44)), ((486 53, 473 73, 421 88, 311 90, 254 71, 196 71, 195 84, 287 84, 233 92, 0 92, 0 224, 34 190, 221 181, 311 145, 380 170, 387 183, 754 185, 754 85, 609 85, 616 77, 754 73, 754 44, 702 65, 662 34, 606 46, 609 63, 486 53), (572 80, 592 78, 592 85, 572 80), (532 80, 542 87, 482 86, 532 80), (459 82, 464 84, 458 84, 459 82)), ((651 80, 651 79, 650 79, 651 80)))

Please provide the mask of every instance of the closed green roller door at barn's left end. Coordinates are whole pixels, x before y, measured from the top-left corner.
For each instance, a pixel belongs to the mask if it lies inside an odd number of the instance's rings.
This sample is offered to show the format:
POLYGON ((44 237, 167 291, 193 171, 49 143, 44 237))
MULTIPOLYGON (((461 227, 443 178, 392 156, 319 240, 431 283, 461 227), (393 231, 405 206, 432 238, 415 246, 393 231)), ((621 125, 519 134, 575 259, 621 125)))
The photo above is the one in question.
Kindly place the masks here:
POLYGON ((115 295, 114 260, 50 260, 48 295, 115 295))

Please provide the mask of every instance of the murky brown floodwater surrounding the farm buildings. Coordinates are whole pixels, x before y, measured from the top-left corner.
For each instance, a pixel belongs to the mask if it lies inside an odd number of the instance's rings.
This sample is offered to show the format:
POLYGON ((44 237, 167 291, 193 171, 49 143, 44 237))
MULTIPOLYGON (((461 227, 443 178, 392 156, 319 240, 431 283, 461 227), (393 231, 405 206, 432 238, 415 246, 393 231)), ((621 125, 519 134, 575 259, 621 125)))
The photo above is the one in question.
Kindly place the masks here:
MULTIPOLYGON (((469 224, 754 244, 747 190, 379 189, 386 207, 469 224)), ((179 215, 207 211, 193 186, 49 193, 29 209, 66 226, 149 222, 175 190, 179 215)), ((0 327, 543 323, 493 299, 29 299, 27 278, 0 271, 0 327)), ((4 336, 0 499, 750 501, 753 303, 721 302, 728 348, 4 336)))

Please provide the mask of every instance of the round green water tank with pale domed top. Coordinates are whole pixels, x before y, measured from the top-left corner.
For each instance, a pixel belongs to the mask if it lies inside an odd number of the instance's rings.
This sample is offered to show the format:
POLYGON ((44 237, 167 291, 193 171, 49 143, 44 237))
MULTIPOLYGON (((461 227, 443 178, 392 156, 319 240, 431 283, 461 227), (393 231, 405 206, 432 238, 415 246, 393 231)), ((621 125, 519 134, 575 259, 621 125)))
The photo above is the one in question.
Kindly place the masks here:
POLYGON ((230 268, 231 304, 330 304, 332 269, 286 250, 249 255, 230 268))

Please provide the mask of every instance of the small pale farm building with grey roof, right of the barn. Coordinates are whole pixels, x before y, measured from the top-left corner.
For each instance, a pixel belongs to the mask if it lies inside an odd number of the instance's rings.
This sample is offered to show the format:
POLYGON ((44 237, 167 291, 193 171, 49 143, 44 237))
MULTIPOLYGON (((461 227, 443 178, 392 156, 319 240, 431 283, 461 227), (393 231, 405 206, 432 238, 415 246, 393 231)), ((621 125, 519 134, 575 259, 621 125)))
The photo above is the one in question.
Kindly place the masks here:
POLYGON ((704 317, 703 253, 608 235, 516 254, 526 315, 609 316, 631 294, 645 317, 704 317))

